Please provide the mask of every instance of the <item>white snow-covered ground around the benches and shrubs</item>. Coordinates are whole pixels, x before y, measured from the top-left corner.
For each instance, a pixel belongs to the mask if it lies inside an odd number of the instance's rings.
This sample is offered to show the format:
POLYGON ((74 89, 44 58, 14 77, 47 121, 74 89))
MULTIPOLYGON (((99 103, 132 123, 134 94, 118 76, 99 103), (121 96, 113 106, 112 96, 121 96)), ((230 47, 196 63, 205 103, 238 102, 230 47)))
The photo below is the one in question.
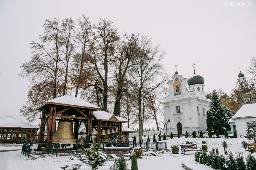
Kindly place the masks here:
MULTIPOLYGON (((143 141, 146 141, 147 137, 143 137, 143 141)), ((150 136, 151 141, 153 140, 153 136, 150 136)), ((158 138, 157 138, 158 139, 158 138)), ((132 141, 133 138, 130 138, 130 141, 132 141)), ((186 140, 189 142, 192 141, 194 144, 197 144, 198 147, 201 147, 202 140, 205 140, 208 145, 208 151, 211 150, 211 148, 218 148, 219 152, 224 153, 224 149, 222 147, 222 141, 226 140, 228 145, 228 150, 230 149, 232 153, 236 152, 243 152, 244 158, 249 154, 248 151, 242 148, 241 142, 242 140, 247 141, 247 139, 216 139, 216 138, 174 138, 174 139, 168 139, 167 140, 167 148, 170 149, 171 145, 177 144, 185 144, 186 140)), ((1 148, 0 148, 1 149, 1 148)), ((18 149, 16 147, 15 149, 18 149)), ((21 149, 21 148, 20 148, 21 149)), ((6 150, 6 149, 3 149, 6 150)), ((27 158, 23 154, 20 154, 21 151, 8 151, 8 152, 0 152, 0 169, 60 169, 61 166, 64 166, 66 164, 82 164, 78 160, 70 160, 69 156, 58 156, 56 158, 54 155, 32 155, 37 157, 37 159, 34 158, 27 158)), ((146 152, 144 152, 146 153, 146 152)), ((256 154, 254 154, 256 157, 256 154)), ((183 169, 182 163, 185 163, 185 165, 191 167, 192 169, 211 169, 205 165, 202 164, 196 164, 194 161, 194 152, 187 152, 186 155, 179 154, 174 155, 171 153, 165 153, 159 156, 143 156, 142 159, 138 159, 138 167, 140 170, 147 170, 147 169, 183 169)), ((114 163, 113 160, 107 161, 106 164, 102 167, 99 167, 99 170, 107 170, 109 169, 110 165, 114 163)), ((127 160, 128 168, 131 168, 131 161, 127 160)), ((86 165, 82 164, 81 169, 89 170, 89 168, 86 165)))

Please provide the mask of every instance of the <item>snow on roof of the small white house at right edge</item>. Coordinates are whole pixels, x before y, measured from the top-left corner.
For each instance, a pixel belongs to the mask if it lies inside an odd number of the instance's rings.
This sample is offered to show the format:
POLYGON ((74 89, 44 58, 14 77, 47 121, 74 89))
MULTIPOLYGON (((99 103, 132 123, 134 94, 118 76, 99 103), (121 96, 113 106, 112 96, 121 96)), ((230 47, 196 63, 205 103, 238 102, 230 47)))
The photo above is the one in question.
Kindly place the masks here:
POLYGON ((238 111, 237 113, 232 117, 234 118, 239 118, 239 117, 251 117, 251 116, 256 116, 256 103, 254 104, 244 104, 238 111))

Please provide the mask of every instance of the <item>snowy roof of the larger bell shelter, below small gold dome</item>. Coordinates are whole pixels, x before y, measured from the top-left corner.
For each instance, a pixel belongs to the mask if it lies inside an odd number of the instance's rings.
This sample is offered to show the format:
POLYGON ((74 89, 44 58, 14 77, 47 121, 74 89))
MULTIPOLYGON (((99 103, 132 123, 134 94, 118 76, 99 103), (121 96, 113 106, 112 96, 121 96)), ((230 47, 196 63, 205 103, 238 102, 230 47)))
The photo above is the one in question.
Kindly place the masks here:
POLYGON ((79 98, 74 97, 74 96, 65 95, 65 96, 57 97, 55 99, 51 99, 51 100, 48 100, 48 101, 44 102, 39 107, 37 107, 36 110, 41 109, 43 106, 45 106, 49 102, 100 109, 100 107, 95 106, 94 104, 88 103, 87 101, 84 101, 84 100, 79 99, 79 98))

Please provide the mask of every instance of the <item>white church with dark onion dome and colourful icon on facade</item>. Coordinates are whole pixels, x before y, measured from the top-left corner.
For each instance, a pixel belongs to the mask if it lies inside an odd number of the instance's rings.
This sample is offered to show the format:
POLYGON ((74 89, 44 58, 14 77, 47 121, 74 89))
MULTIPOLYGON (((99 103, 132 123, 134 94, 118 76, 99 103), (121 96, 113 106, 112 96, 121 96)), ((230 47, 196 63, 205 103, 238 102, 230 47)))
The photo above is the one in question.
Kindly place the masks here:
POLYGON ((197 75, 195 69, 194 75, 188 79, 176 70, 167 84, 169 95, 163 102, 164 119, 168 122, 167 134, 206 129, 206 112, 211 100, 205 97, 204 78, 197 75))

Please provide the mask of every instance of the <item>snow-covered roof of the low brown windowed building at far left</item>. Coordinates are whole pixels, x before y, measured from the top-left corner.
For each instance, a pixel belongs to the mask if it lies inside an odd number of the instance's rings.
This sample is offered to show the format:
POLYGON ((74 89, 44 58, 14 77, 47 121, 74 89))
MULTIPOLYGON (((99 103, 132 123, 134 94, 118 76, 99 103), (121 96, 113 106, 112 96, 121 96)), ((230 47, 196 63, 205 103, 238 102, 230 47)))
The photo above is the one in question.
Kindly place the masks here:
POLYGON ((0 120, 0 127, 20 127, 20 128, 36 128, 38 127, 30 125, 26 122, 14 119, 13 117, 8 117, 0 120))

